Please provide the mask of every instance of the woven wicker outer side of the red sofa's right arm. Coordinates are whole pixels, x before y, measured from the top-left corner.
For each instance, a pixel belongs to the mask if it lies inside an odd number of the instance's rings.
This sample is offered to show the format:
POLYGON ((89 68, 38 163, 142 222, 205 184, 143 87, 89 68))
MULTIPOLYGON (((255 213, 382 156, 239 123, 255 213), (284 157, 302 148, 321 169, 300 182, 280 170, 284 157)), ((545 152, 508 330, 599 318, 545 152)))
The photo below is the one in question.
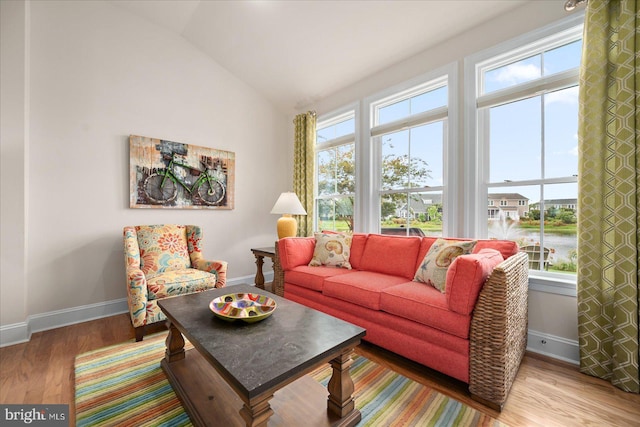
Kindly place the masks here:
POLYGON ((469 391, 502 410, 527 347, 529 268, 517 253, 496 266, 473 311, 469 391))

